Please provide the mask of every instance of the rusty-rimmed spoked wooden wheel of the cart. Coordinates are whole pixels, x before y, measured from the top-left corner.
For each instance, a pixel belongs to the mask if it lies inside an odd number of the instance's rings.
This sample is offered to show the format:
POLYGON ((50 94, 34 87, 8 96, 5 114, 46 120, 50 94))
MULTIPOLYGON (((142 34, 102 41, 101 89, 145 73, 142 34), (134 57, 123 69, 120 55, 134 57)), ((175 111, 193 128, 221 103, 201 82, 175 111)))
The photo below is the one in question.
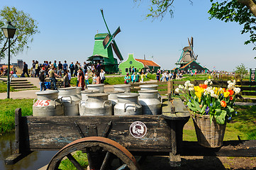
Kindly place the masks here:
POLYGON ((140 169, 136 159, 125 147, 105 137, 84 137, 69 143, 52 157, 47 169, 59 169, 60 162, 65 157, 67 157, 77 169, 85 169, 85 167, 81 166, 72 156, 72 152, 76 151, 87 153, 90 170, 140 169))

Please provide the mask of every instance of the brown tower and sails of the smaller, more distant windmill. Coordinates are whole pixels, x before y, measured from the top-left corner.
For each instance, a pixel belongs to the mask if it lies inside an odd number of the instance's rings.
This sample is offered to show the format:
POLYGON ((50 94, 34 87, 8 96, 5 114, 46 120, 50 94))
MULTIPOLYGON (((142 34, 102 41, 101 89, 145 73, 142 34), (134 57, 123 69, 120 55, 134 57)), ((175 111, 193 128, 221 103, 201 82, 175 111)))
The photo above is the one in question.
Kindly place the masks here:
MULTIPOLYGON (((189 38, 188 38, 189 41, 189 38)), ((179 60, 175 63, 180 65, 179 67, 183 67, 184 65, 188 64, 191 61, 196 61, 198 55, 195 55, 194 50, 194 40, 193 37, 191 37, 191 40, 189 41, 189 46, 184 47, 182 49, 182 55, 180 55, 179 60)))

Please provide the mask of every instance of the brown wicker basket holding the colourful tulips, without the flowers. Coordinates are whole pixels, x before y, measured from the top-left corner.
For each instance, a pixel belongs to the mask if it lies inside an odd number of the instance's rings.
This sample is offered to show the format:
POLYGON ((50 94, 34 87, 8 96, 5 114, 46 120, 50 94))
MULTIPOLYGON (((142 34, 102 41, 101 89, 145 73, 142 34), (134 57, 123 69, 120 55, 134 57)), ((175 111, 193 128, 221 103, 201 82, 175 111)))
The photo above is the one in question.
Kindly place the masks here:
POLYGON ((210 115, 192 116, 199 145, 203 147, 221 147, 226 130, 226 123, 220 125, 214 120, 211 123, 210 115))

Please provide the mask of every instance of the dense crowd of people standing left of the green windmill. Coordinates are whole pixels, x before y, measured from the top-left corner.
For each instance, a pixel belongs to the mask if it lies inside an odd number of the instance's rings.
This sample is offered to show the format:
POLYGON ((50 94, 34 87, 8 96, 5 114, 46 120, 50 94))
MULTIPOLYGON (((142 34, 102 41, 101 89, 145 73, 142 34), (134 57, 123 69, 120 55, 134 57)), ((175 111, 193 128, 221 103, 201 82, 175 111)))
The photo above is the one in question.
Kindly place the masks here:
POLYGON ((91 68, 88 67, 87 63, 84 62, 80 64, 78 61, 74 64, 71 62, 67 64, 65 60, 62 64, 61 61, 57 63, 55 60, 53 63, 44 61, 43 64, 40 64, 38 61, 32 61, 32 67, 29 70, 28 64, 23 62, 23 72, 21 77, 38 77, 40 79, 40 90, 46 90, 45 78, 49 77, 50 84, 52 84, 53 89, 57 89, 56 78, 63 78, 64 87, 70 86, 71 77, 77 77, 77 86, 82 87, 82 90, 87 87, 89 84, 89 74, 88 69, 91 70, 92 74, 92 84, 103 84, 105 78, 105 72, 101 69, 101 64, 91 65, 91 68), (28 72, 30 71, 30 72, 28 72))

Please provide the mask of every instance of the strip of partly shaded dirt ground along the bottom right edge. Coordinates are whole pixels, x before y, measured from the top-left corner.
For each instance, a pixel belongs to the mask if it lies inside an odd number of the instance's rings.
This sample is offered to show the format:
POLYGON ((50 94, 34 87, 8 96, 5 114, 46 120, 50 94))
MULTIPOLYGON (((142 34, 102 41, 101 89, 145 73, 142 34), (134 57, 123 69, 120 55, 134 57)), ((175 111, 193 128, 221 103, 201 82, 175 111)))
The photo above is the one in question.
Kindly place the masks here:
MULTIPOLYGON (((169 157, 147 157, 141 164, 143 170, 172 169, 169 157)), ((256 157, 182 157, 182 166, 177 170, 211 170, 211 169, 255 169, 256 157)))

